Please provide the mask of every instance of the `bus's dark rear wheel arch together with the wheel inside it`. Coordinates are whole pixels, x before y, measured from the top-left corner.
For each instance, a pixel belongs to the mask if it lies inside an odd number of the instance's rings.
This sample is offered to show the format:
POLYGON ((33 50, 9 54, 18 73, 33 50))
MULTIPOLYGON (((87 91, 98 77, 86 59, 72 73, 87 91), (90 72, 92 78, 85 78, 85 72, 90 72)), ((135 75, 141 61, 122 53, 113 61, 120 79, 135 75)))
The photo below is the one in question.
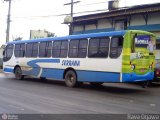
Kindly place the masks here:
POLYGON ((77 73, 73 68, 65 69, 63 78, 68 87, 73 88, 77 86, 77 73))

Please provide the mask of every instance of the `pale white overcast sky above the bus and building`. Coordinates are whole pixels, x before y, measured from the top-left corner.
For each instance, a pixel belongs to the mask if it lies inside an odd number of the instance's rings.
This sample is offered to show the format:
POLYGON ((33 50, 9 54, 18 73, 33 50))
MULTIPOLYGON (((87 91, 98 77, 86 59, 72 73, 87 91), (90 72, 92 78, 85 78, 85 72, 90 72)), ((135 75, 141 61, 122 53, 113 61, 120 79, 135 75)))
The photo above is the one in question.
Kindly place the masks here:
MULTIPOLYGON (((62 24, 66 14, 70 14, 70 6, 64 5, 71 0, 12 0, 10 41, 16 37, 29 39, 30 30, 47 30, 56 36, 68 35, 69 27, 62 24)), ((74 0, 77 1, 77 0, 74 0)), ((74 13, 94 10, 107 10, 108 0, 80 0, 74 5, 74 13)), ((120 7, 149 3, 160 0, 120 0, 120 7)), ((6 20, 8 2, 0 0, 0 45, 6 39, 6 20)), ((90 13, 83 13, 90 14, 90 13)), ((74 14, 80 16, 81 14, 74 14)))

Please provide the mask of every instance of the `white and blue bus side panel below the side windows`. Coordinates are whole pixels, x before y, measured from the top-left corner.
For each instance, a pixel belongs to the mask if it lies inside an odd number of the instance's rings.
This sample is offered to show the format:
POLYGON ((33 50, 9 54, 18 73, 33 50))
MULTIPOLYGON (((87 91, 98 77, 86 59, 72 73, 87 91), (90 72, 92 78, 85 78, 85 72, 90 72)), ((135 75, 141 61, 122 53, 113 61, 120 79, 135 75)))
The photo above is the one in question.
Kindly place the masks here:
MULTIPOLYGON (((74 70, 76 70, 78 81, 120 82, 121 63, 122 63, 121 58, 122 58, 121 56, 115 60, 112 60, 110 58, 106 59, 19 58, 16 59, 16 61, 14 61, 12 65, 10 65, 12 66, 10 67, 10 72, 13 72, 15 64, 19 63, 17 65, 21 66, 23 75, 62 80, 65 69, 71 67, 74 68, 74 70), (78 61, 78 64, 75 64, 74 63, 75 61, 78 61), (95 65, 95 63, 97 64, 95 65)), ((5 67, 4 71, 6 71, 7 69, 9 68, 5 67)))

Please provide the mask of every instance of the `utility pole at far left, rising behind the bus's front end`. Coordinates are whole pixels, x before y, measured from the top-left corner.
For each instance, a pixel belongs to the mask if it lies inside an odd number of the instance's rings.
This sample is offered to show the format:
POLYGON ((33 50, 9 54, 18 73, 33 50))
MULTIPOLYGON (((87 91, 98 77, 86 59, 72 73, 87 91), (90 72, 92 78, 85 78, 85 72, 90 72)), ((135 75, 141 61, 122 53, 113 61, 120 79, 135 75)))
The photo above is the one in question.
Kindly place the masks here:
POLYGON ((6 43, 9 42, 9 34, 10 34, 10 22, 11 22, 11 1, 12 0, 4 0, 9 3, 8 7, 8 16, 7 16, 7 30, 6 30, 6 43))

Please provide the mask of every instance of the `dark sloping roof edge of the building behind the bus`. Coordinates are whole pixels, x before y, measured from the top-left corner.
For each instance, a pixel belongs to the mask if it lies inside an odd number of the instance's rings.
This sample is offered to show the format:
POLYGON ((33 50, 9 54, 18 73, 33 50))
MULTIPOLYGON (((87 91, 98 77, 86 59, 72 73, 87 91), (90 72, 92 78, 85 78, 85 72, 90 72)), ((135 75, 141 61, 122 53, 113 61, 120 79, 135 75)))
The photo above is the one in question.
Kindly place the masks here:
POLYGON ((136 5, 131 7, 122 7, 114 10, 110 10, 107 12, 90 14, 90 15, 83 15, 74 17, 73 23, 85 22, 90 21, 94 22, 97 19, 104 19, 104 18, 114 18, 120 16, 130 16, 134 14, 148 14, 153 12, 160 12, 160 3, 154 4, 143 4, 143 5, 136 5))

